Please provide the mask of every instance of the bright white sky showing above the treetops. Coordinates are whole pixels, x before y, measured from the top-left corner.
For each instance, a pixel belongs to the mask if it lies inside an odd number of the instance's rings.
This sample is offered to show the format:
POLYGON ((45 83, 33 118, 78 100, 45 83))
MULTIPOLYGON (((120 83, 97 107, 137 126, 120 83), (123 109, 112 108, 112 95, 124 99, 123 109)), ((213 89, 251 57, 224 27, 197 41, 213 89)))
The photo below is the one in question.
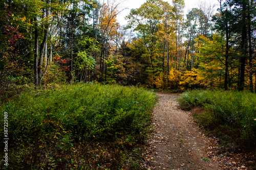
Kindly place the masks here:
MULTIPOLYGON (((169 4, 172 4, 172 0, 164 0, 166 2, 168 2, 169 4)), ((198 8, 200 1, 202 2, 206 2, 206 4, 211 4, 211 5, 215 5, 215 10, 217 12, 217 9, 219 7, 219 2, 218 0, 184 0, 185 2, 185 9, 184 9, 184 13, 187 14, 189 10, 191 10, 192 8, 198 8)), ((127 8, 125 10, 123 10, 119 16, 117 17, 117 20, 119 21, 120 25, 126 25, 127 21, 124 19, 125 16, 129 15, 131 9, 135 9, 135 8, 139 8, 143 3, 145 3, 146 0, 124 0, 123 2, 121 2, 120 4, 120 9, 124 9, 127 8)))

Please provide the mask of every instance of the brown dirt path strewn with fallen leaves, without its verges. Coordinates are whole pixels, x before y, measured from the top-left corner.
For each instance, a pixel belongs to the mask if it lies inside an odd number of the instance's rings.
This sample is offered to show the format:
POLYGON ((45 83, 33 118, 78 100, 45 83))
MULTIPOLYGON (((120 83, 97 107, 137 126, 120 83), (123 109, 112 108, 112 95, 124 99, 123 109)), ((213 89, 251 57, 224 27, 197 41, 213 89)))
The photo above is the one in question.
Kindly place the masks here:
POLYGON ((218 169, 218 163, 207 157, 209 139, 193 124, 188 113, 178 109, 179 96, 158 96, 154 109, 156 130, 148 156, 150 169, 218 169))

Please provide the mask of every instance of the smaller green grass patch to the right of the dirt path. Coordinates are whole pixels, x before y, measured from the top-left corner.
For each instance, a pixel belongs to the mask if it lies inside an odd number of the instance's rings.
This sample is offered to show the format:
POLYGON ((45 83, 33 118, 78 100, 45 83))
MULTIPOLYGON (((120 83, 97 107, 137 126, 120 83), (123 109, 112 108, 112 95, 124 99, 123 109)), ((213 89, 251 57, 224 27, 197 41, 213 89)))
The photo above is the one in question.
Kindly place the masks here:
POLYGON ((224 90, 191 90, 181 94, 184 110, 203 108, 194 113, 199 124, 225 143, 256 145, 256 94, 224 90))

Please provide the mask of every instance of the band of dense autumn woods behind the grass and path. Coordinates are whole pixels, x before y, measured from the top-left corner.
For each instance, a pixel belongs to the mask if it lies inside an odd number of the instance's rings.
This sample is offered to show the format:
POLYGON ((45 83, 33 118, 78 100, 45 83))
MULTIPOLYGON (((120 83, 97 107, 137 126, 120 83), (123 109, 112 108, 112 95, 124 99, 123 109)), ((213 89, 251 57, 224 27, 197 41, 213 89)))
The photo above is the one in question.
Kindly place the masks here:
POLYGON ((255 2, 1 1, 1 93, 17 85, 117 83, 255 91, 255 2))

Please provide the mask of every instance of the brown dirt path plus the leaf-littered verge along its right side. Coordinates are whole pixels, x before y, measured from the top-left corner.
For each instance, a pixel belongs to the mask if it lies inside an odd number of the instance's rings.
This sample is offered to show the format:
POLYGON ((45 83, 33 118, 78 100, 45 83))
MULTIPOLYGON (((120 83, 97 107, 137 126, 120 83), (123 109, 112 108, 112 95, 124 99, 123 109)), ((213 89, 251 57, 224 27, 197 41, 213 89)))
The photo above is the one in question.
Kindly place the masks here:
POLYGON ((241 155, 220 147, 193 122, 191 112, 179 109, 177 94, 158 93, 154 129, 145 151, 147 169, 254 169, 241 155))

